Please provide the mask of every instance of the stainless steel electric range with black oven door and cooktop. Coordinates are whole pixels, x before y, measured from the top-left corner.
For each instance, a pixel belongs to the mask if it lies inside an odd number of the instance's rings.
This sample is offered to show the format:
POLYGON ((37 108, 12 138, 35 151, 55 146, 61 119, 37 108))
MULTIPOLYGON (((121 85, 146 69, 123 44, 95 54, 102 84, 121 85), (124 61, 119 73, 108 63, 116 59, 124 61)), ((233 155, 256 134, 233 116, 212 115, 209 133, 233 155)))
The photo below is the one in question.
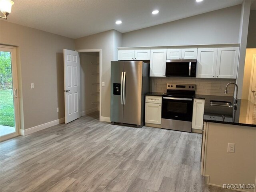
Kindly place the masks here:
POLYGON ((161 128, 191 132, 196 85, 168 83, 162 99, 161 128))

